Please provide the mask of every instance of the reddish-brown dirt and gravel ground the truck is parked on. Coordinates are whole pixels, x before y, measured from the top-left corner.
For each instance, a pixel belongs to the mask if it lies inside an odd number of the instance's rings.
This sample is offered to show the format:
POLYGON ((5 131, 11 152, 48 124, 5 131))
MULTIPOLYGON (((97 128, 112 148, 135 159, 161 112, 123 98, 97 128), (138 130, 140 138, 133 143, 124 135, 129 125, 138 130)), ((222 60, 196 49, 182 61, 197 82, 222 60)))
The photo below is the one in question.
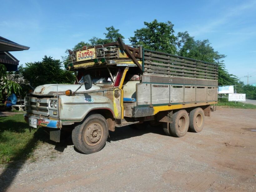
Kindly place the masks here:
POLYGON ((90 155, 44 144, 34 162, 0 169, 0 191, 255 191, 255 146, 256 110, 218 107, 182 138, 127 126, 90 155))

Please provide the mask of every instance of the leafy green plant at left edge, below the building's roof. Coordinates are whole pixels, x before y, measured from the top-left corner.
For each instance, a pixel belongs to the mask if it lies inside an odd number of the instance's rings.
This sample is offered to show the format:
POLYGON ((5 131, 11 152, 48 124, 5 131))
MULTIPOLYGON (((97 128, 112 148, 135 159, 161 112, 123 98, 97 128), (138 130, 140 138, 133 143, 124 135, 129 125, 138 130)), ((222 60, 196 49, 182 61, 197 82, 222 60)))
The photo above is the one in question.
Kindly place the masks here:
POLYGON ((7 78, 6 67, 0 64, 0 99, 10 96, 12 93, 20 94, 21 86, 7 78))

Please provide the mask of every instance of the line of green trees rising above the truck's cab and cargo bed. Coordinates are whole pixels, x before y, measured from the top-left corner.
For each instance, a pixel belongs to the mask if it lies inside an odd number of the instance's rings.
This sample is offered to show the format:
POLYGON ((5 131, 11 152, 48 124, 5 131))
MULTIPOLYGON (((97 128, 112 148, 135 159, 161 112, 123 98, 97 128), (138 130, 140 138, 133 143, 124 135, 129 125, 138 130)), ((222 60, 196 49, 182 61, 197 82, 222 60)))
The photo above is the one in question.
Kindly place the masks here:
MULTIPOLYGON (((158 22, 156 19, 152 22, 144 22, 145 27, 137 29, 134 32, 134 36, 130 37, 129 40, 132 44, 142 45, 146 49, 155 51, 166 52, 169 54, 177 54, 182 57, 190 57, 197 60, 216 63, 219 65, 219 85, 239 85, 238 78, 229 74, 225 68, 223 54, 219 54, 211 46, 208 39, 206 40, 195 40, 194 37, 185 32, 178 32, 175 36, 174 25, 170 22, 158 22)), ((117 37, 124 37, 119 33, 118 29, 113 26, 106 27, 107 32, 103 33, 105 39, 98 37, 92 37, 88 42, 79 42, 73 48, 79 49, 85 45, 96 45, 115 42, 117 37)), ((68 63, 67 57, 62 57, 63 63, 68 63)))

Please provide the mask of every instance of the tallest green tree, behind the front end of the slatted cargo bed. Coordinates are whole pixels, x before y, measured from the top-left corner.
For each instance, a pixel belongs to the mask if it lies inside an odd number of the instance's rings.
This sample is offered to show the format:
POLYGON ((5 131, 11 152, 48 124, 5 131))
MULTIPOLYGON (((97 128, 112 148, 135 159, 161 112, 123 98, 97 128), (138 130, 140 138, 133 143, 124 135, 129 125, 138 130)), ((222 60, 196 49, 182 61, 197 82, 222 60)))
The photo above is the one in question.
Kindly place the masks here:
POLYGON ((146 27, 137 29, 134 36, 129 38, 132 44, 142 45, 146 49, 176 54, 174 25, 170 21, 164 23, 155 19, 149 23, 144 22, 144 25, 146 27))

